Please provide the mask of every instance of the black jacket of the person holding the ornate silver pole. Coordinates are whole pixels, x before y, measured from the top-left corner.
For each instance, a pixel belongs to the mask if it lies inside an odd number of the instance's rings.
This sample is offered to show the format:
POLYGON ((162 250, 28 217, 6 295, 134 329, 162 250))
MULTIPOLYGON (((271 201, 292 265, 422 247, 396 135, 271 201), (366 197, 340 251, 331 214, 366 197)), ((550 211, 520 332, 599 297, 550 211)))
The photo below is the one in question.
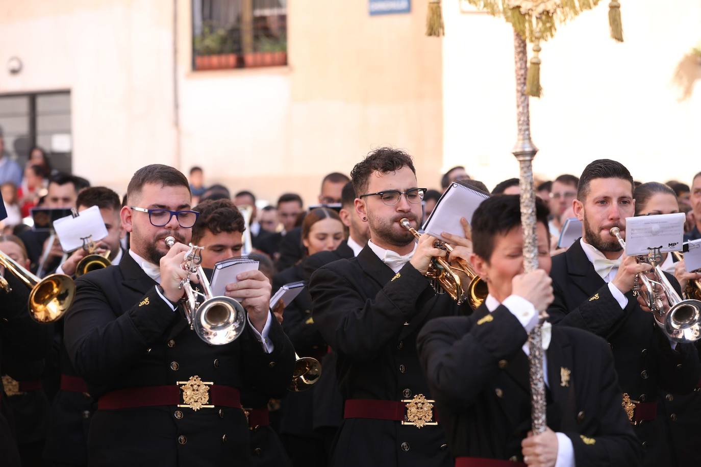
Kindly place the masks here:
MULTIPOLYGON (((469 317, 429 321, 418 336, 421 365, 454 456, 522 461, 531 429, 528 336, 505 306, 489 315, 483 304, 469 317)), ((606 342, 553 327, 546 360, 547 426, 570 438, 577 467, 637 466, 606 342)))

